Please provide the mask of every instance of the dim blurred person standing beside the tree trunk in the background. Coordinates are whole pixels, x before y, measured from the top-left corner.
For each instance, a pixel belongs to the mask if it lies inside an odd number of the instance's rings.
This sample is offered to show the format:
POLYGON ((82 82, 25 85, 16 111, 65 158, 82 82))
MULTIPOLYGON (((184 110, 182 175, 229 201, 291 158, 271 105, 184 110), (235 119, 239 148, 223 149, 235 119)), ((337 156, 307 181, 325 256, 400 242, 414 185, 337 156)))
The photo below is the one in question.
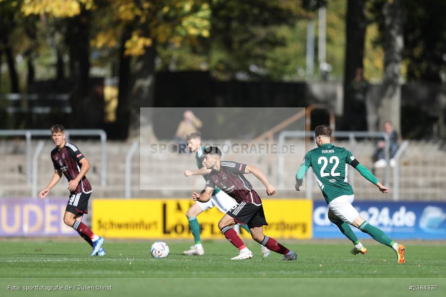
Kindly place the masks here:
POLYGON ((355 78, 348 86, 350 95, 351 122, 349 126, 353 131, 367 130, 366 96, 369 82, 365 80, 363 69, 356 68, 355 78))

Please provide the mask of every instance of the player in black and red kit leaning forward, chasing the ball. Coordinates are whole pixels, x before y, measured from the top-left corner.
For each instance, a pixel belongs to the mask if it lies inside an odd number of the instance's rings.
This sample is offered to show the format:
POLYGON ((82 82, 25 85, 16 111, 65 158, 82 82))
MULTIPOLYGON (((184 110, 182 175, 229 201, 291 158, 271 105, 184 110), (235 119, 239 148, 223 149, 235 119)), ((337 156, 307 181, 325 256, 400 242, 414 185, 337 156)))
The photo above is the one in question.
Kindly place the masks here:
POLYGON ((259 168, 237 162, 222 161, 222 152, 217 147, 209 147, 204 150, 204 164, 207 169, 212 169, 206 180, 206 188, 203 194, 194 192, 192 199, 207 202, 214 188, 219 187, 224 193, 234 198, 237 204, 232 207, 219 222, 219 228, 224 237, 240 252, 231 260, 252 258, 252 252, 232 229, 236 223, 248 225, 252 238, 272 251, 283 254, 284 260, 295 260, 297 254, 279 244, 275 239, 263 234, 263 226, 268 223, 263 211, 262 200, 252 188, 251 183, 243 174, 252 173, 265 186, 268 196, 273 196, 276 190, 268 182, 265 174, 259 168))

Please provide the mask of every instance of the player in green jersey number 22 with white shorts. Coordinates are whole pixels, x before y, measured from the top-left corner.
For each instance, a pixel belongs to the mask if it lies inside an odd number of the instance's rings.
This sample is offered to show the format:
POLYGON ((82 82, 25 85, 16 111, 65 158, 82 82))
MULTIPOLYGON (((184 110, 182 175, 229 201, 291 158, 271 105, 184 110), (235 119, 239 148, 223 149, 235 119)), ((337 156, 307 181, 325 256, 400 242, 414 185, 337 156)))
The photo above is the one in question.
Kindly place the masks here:
POLYGON ((316 181, 321 188, 329 206, 328 217, 349 240, 353 242, 352 254, 366 253, 365 248, 353 233, 352 225, 364 233, 372 236, 377 242, 391 247, 397 256, 398 263, 404 263, 404 246, 392 241, 381 229, 370 225, 351 205, 354 200, 353 189, 347 181, 347 164, 353 166, 363 177, 378 187, 382 193, 389 189, 345 148, 335 147, 330 143, 332 128, 327 125, 317 126, 315 129, 317 148, 305 154, 299 170, 296 173, 296 190, 302 185, 305 172, 311 166, 316 181))

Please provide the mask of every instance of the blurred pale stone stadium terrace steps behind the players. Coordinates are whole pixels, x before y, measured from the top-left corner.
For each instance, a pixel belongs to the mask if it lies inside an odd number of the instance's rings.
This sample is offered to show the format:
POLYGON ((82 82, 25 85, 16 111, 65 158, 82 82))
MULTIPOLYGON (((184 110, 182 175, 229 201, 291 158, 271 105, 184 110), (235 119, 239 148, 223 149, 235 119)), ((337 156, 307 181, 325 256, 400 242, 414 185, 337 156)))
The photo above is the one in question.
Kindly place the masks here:
MULTIPOLYGON (((96 198, 123 198, 125 197, 125 157, 131 147, 131 143, 112 142, 107 143, 107 186, 101 186, 101 144, 99 141, 73 141, 86 155, 92 167, 87 174, 96 198)), ((373 170, 371 155, 374 150, 374 142, 357 142, 354 148, 348 142, 336 141, 337 146, 349 148, 356 158, 369 169, 373 170)), ((37 141, 33 141, 33 148, 37 141)), ((50 160, 50 151, 54 148, 51 140, 46 141, 45 147, 39 156, 38 162, 38 191, 50 181, 53 174, 53 165, 50 160)), ((140 155, 136 151, 132 158, 132 186, 131 196, 141 197, 163 197, 184 198, 189 197, 192 190, 201 190, 204 186, 200 176, 186 178, 183 175, 186 169, 195 169, 195 158, 188 154, 168 154, 147 156, 140 164, 140 155), (140 168, 142 171, 142 183, 154 191, 140 190, 140 168), (147 174, 150 172, 152 174, 147 174)), ((26 160, 25 142, 23 140, 1 140, 0 141, 0 198, 30 197, 32 195, 31 185, 26 183, 26 160)), ((245 154, 243 159, 237 156, 227 155, 224 159, 233 159, 244 163, 250 163, 264 170, 274 185, 278 185, 278 161, 277 155, 268 156, 264 154, 245 154), (239 158, 239 157, 238 157, 239 158), (270 162, 271 166, 268 166, 270 162)), ((277 198, 306 197, 306 191, 296 192, 293 190, 294 174, 300 165, 302 155, 287 157, 284 166, 285 189, 278 189, 277 198), (287 190, 286 190, 287 189, 287 190)), ((400 199, 402 200, 444 200, 446 191, 446 151, 441 143, 411 141, 408 148, 401 156, 400 164, 400 199), (420 190, 420 189, 423 190, 420 190)), ((357 200, 391 200, 393 186, 393 169, 390 169, 390 195, 380 194, 375 187, 362 178, 357 172, 349 168, 349 181, 354 185, 357 200)), ((385 170, 373 170, 380 181, 384 181, 385 170)), ((311 174, 311 172, 309 172, 311 174)), ((310 176, 310 175, 308 175, 310 176)), ((253 183, 254 189, 261 189, 259 193, 264 197, 263 186, 254 177, 248 177, 253 183)), ((67 197, 66 179, 53 189, 52 197, 67 197)), ((313 181, 313 198, 321 197, 320 190, 313 181)))

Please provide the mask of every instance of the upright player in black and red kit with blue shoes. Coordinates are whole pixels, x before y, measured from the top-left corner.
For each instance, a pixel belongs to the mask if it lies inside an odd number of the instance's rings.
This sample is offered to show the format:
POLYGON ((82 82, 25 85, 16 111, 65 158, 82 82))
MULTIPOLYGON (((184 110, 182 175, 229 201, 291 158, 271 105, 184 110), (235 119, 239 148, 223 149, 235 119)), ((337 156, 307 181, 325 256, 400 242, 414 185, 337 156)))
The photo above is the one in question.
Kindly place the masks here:
POLYGON ((47 197, 51 189, 58 183, 62 173, 68 180, 70 197, 66 205, 63 222, 73 227, 79 235, 93 247, 90 253, 93 255, 105 255, 102 247, 104 239, 94 234, 90 228, 82 223, 82 216, 88 213, 88 199, 92 188, 85 174, 90 169, 90 162, 73 144, 65 141, 65 133, 62 125, 51 127, 51 137, 56 148, 51 151, 55 173, 48 186, 39 194, 41 199, 47 197))

